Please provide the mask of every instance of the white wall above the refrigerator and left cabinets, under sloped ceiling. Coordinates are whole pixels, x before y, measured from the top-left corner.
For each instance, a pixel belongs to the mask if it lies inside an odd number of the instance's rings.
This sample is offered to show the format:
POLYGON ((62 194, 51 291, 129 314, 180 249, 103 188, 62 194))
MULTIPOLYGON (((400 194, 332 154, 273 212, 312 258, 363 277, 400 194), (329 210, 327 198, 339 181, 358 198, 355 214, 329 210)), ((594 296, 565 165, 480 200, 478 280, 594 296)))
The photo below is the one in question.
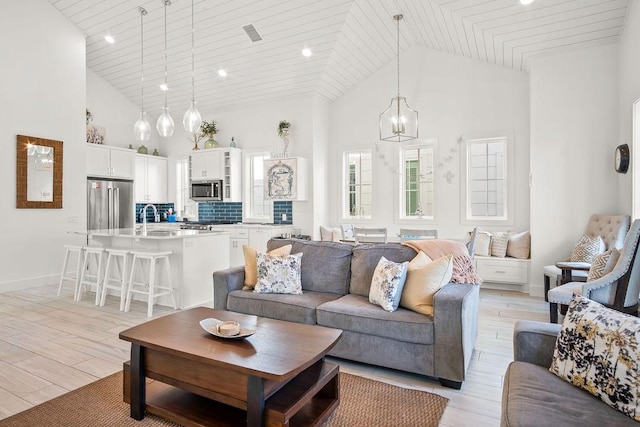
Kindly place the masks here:
MULTIPOLYGON (((132 144, 136 149, 140 146, 140 143, 133 137, 133 125, 140 116, 140 109, 88 68, 87 108, 93 113, 91 124, 106 129, 106 145, 126 148, 132 144)), ((149 117, 152 129, 151 137, 145 143, 149 154, 160 145, 160 136, 155 130, 156 123, 151 119, 149 117)), ((180 117, 179 123, 182 123, 182 117, 180 117)))

